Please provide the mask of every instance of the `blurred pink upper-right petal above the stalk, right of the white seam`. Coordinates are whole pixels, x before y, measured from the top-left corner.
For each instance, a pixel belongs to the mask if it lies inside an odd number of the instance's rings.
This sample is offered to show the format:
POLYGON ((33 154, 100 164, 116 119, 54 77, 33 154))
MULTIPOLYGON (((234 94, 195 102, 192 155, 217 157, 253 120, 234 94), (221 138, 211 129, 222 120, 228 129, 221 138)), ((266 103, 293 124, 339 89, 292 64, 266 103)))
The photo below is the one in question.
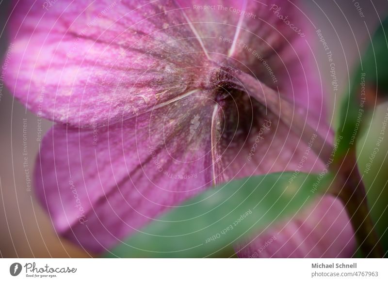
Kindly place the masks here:
POLYGON ((248 73, 298 107, 325 118, 322 82, 311 49, 314 31, 303 5, 297 0, 248 1, 246 11, 257 17, 242 21, 239 38, 243 44, 236 46, 233 57, 247 66, 248 73))

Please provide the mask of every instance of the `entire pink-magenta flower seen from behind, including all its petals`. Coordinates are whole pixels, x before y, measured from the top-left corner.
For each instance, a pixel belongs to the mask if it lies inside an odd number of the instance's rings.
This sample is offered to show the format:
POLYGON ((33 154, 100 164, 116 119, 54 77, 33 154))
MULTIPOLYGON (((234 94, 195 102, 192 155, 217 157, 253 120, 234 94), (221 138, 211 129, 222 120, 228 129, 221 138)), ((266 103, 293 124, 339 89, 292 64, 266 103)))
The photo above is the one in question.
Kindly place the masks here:
MULTIPOLYGON (((213 185, 324 168, 313 152, 300 166, 307 144, 271 107, 290 101, 332 138, 302 36, 309 22, 295 3, 19 1, 10 26, 8 86, 56 122, 37 160, 38 198, 56 231, 86 250, 111 249, 213 185)), ((339 200, 325 196, 236 251, 350 256, 348 221, 339 200)))

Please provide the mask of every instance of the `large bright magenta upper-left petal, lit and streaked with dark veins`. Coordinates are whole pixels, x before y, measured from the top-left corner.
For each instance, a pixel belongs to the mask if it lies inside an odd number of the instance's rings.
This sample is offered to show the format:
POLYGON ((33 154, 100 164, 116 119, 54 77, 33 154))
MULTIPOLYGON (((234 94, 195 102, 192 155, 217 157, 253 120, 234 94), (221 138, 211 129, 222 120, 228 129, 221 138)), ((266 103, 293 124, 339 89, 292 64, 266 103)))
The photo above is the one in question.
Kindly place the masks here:
POLYGON ((39 115, 77 127, 135 116, 195 88, 206 56, 173 1, 22 1, 6 82, 39 115), (194 67, 194 68, 191 68, 194 67))

